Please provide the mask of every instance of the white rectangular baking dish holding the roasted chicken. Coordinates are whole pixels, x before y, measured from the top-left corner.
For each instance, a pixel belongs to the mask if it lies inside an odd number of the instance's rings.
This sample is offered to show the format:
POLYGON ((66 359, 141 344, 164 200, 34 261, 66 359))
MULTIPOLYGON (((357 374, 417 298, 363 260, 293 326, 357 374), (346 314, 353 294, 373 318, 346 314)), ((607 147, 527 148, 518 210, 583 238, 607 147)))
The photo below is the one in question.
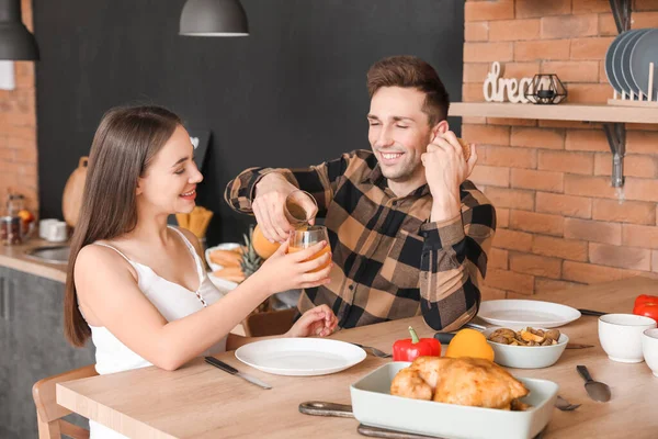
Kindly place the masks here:
MULTIPOLYGON (((529 348, 530 349, 530 348, 529 348)), ((546 380, 517 379, 530 394, 525 412, 468 407, 390 395, 396 373, 409 365, 394 361, 350 386, 352 410, 362 424, 418 435, 469 439, 531 439, 552 419, 558 385, 546 380)))

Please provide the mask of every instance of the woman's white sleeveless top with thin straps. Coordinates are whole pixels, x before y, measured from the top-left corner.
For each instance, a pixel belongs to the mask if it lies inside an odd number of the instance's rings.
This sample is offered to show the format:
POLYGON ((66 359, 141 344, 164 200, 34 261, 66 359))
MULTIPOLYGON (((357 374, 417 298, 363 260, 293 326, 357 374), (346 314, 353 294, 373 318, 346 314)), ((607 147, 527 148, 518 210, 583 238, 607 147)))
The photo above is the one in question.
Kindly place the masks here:
MULTIPOLYGON (((138 277, 139 290, 144 295, 158 308, 160 314, 167 319, 167 322, 178 320, 179 318, 186 317, 197 311, 203 309, 224 296, 219 290, 211 282, 205 272, 201 258, 196 255, 194 246, 190 244, 185 235, 179 229, 170 227, 181 236, 186 247, 190 249, 194 263, 196 266, 196 273, 200 280, 200 286, 196 291, 191 291, 181 286, 177 283, 170 282, 151 270, 148 266, 134 262, 128 259, 118 249, 103 243, 94 243, 97 246, 103 246, 113 249, 120 254, 131 266, 135 268, 138 277)), ((137 353, 133 352, 121 342, 107 328, 91 326, 91 339, 95 347, 95 370, 99 374, 107 374, 121 372, 129 369, 146 368, 152 365, 137 353)), ((202 356, 212 356, 226 350, 226 337, 219 342, 211 347, 208 350, 202 353, 202 356)), ((118 439, 124 438, 120 435, 98 423, 92 420, 89 421, 90 437, 93 439, 118 439)))

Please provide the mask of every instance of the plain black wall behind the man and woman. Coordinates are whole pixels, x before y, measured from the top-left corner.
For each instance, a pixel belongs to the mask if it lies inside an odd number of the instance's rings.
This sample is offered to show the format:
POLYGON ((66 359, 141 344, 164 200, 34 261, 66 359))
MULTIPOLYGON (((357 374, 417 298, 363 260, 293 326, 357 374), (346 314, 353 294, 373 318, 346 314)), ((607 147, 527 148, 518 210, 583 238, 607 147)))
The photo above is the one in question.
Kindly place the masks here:
POLYGON ((241 38, 179 36, 183 4, 34 0, 42 217, 61 217, 66 179, 114 105, 166 105, 212 131, 197 198, 216 212, 212 245, 246 228, 223 201, 240 170, 370 148, 375 60, 420 56, 461 99, 463 0, 242 0, 251 35, 241 38))

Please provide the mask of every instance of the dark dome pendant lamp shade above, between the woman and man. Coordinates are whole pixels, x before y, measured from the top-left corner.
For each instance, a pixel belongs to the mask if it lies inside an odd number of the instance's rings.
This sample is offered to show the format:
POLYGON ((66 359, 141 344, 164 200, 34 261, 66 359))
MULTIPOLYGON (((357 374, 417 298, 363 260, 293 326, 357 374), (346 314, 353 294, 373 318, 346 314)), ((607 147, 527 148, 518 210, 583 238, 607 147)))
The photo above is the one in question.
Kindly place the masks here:
POLYGON ((181 13, 179 34, 247 36, 247 14, 238 0, 188 0, 181 13))

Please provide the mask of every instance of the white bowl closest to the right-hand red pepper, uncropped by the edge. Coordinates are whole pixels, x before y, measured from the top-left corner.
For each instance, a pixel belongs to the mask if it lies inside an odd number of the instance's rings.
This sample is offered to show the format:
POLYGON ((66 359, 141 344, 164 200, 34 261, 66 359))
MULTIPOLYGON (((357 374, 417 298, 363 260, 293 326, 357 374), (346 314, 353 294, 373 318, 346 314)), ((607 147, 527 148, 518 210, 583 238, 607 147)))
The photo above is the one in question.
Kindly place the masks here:
POLYGON ((599 341, 612 361, 639 363, 642 334, 656 327, 656 320, 635 314, 605 314, 599 317, 599 341))

